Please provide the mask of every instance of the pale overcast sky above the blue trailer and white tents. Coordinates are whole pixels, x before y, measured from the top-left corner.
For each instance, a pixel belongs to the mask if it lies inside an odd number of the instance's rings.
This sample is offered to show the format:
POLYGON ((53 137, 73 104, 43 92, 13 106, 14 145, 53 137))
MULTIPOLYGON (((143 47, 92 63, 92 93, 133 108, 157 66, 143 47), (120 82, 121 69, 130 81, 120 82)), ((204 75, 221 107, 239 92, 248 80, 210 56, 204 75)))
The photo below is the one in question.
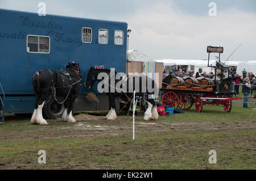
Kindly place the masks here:
POLYGON ((127 22, 129 49, 153 59, 207 59, 208 45, 224 47, 226 59, 242 44, 229 60, 256 60, 255 0, 0 0, 0 8, 38 12, 39 2, 46 14, 127 22))

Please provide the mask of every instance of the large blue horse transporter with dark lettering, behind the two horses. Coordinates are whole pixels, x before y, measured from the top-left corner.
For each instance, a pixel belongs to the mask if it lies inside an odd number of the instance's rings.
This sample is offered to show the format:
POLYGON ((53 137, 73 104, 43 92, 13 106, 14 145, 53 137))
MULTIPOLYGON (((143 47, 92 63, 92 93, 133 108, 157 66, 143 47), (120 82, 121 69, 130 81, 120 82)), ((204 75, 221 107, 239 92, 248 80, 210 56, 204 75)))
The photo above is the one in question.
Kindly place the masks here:
MULTIPOLYGON (((0 9, 0 24, 1 123, 5 113, 34 111, 31 79, 37 70, 65 69, 68 61, 80 64, 83 81, 74 111, 108 110, 108 99, 98 94, 97 85, 92 92, 99 101, 86 102, 84 81, 94 65, 126 72, 127 23, 0 9)), ((59 117, 63 108, 52 99, 44 115, 59 117)))

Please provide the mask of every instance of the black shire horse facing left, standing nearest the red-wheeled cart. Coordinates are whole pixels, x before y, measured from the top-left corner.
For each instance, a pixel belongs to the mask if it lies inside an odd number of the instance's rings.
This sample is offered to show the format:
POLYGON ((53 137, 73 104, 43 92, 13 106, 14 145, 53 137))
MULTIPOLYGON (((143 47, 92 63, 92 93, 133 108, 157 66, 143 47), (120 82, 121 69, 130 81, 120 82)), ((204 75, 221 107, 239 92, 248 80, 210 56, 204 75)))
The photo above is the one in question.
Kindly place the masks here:
POLYGON ((117 118, 114 102, 115 97, 119 97, 127 102, 133 95, 134 90, 136 95, 144 98, 145 102, 148 104, 148 108, 144 113, 144 120, 158 119, 158 111, 156 109, 155 99, 149 98, 149 96, 155 94, 156 89, 158 89, 156 83, 146 75, 129 76, 126 79, 123 79, 123 77, 118 75, 120 74, 117 74, 115 71, 114 73, 111 73, 109 69, 94 69, 92 67, 88 71, 88 74, 85 78, 86 89, 89 90, 93 87, 94 82, 98 81, 100 82, 98 84, 98 89, 101 87, 101 89, 104 89, 105 94, 109 96, 109 112, 108 115, 105 116, 105 119, 114 120, 117 118), (107 78, 101 77, 100 73, 106 73, 106 75, 108 75, 106 76, 107 78), (118 78, 115 79, 117 76, 118 78), (123 85, 126 85, 126 87, 123 87, 123 85))

